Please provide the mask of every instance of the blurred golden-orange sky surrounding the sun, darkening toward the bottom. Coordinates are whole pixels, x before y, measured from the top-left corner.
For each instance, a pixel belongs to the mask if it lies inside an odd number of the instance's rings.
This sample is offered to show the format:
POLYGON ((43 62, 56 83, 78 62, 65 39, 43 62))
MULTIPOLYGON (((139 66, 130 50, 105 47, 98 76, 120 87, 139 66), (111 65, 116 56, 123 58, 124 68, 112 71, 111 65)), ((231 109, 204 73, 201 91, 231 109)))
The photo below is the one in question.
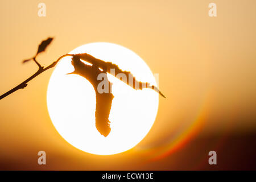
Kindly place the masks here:
POLYGON ((159 111, 130 151, 87 154, 57 133, 46 92, 53 69, 0 101, 0 169, 256 169, 256 1, 0 1, 0 94, 82 44, 125 46, 159 73, 159 111), (46 17, 38 3, 46 3, 46 17), (208 16, 210 2, 217 17, 208 16), (47 165, 37 163, 46 151, 47 165), (217 151, 217 166, 208 152, 217 151))

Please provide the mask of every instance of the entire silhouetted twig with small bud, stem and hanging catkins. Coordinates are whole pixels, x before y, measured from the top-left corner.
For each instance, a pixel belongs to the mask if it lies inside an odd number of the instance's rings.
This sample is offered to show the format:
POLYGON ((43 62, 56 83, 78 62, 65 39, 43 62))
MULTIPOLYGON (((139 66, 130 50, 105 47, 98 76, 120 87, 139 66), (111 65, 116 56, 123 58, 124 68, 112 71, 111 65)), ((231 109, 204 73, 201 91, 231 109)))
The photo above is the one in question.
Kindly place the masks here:
POLYGON ((47 71, 50 68, 55 67, 55 65, 59 62, 60 59, 66 56, 72 56, 72 65, 74 67, 74 71, 72 73, 68 74, 77 74, 84 78, 86 78, 90 84, 93 85, 93 88, 96 92, 96 111, 95 111, 95 123, 96 123, 96 129, 100 132, 100 134, 104 135, 104 137, 107 137, 111 131, 110 127, 110 121, 109 121, 109 114, 112 107, 112 101, 113 101, 113 94, 111 93, 112 90, 112 82, 108 80, 108 76, 106 73, 110 73, 113 76, 117 77, 119 80, 125 82, 127 85, 131 86, 135 90, 142 90, 143 88, 150 88, 152 90, 155 90, 160 94, 160 96, 166 98, 163 93, 160 92, 160 90, 154 86, 150 85, 148 82, 142 82, 138 81, 129 71, 123 71, 121 68, 118 67, 118 65, 113 64, 112 62, 105 62, 103 60, 97 59, 96 57, 93 57, 92 55, 89 55, 88 53, 79 53, 79 54, 65 54, 63 56, 60 56, 59 59, 54 61, 52 64, 48 65, 48 67, 44 68, 42 65, 36 61, 36 56, 40 52, 44 52, 47 48, 47 46, 52 42, 53 38, 48 38, 46 40, 43 40, 42 43, 38 47, 38 52, 36 53, 35 57, 32 57, 31 59, 23 60, 23 63, 26 63, 30 60, 34 60, 35 63, 38 65, 39 69, 34 75, 27 78, 27 80, 23 81, 21 84, 15 86, 15 88, 9 90, 8 92, 2 94, 0 96, 0 100, 6 96, 9 96, 9 94, 15 92, 19 89, 24 89, 27 86, 27 83, 34 79, 36 76, 40 75, 41 73, 47 71), (87 65, 82 63, 81 60, 87 61, 88 63, 91 63, 92 65, 87 65), (114 71, 114 72, 112 72, 114 71), (105 73, 104 81, 107 81, 108 86, 104 85, 104 89, 106 86, 107 92, 100 93, 98 92, 98 85, 100 84, 101 80, 98 80, 98 75, 101 73, 105 73), (127 78, 132 79, 132 81, 129 81, 128 83, 121 79, 121 77, 118 77, 118 74, 122 73, 127 78))

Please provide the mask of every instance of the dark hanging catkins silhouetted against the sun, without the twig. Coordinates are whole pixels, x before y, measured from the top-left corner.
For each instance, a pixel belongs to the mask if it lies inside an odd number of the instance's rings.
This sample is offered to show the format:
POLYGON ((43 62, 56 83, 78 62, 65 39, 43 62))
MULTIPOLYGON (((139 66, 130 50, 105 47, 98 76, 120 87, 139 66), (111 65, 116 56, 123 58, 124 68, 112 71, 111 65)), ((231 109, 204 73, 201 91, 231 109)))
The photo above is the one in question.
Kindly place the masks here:
MULTIPOLYGON (((128 71, 122 71, 118 65, 115 65, 111 62, 105 62, 100 59, 97 59, 96 57, 93 57, 92 55, 89 55, 88 53, 80 53, 76 55, 69 55, 72 56, 72 65, 74 67, 74 71, 70 74, 76 74, 80 75, 86 80, 90 82, 90 84, 93 85, 94 91, 96 93, 96 110, 95 110, 95 125, 96 129, 100 132, 101 135, 104 135, 104 137, 107 137, 111 131, 110 127, 110 121, 109 121, 109 114, 112 107, 112 101, 114 98, 114 95, 112 94, 112 82, 108 80, 108 76, 106 76, 106 73, 110 73, 113 76, 117 77, 116 73, 123 73, 126 75, 127 78, 133 79, 133 81, 127 83, 124 81, 127 85, 133 87, 134 89, 143 89, 143 88, 151 88, 158 92, 162 97, 165 98, 165 96, 159 91, 158 88, 154 85, 150 85, 148 82, 141 82, 136 80, 136 78, 131 75, 131 72, 128 71), (85 63, 82 63, 81 60, 87 61, 88 63, 91 63, 92 65, 87 65, 85 63), (101 69, 102 70, 101 70, 101 69), (111 71, 113 69, 115 73, 111 71), (98 75, 101 73, 105 73, 104 75, 104 81, 107 81, 106 85, 104 85, 104 89, 106 86, 107 92, 98 92, 98 85, 100 84, 101 80, 98 80, 98 75), (137 86, 135 86, 137 84, 137 86)), ((120 78, 119 78, 120 80, 120 78)), ((122 80, 123 81, 123 80, 122 80)))

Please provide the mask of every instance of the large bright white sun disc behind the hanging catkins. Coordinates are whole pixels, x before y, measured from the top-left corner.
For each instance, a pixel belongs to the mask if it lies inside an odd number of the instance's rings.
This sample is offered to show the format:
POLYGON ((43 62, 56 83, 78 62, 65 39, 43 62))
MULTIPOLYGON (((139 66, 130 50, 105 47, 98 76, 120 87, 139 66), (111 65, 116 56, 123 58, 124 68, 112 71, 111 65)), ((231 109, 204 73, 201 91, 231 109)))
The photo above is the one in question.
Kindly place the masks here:
MULTIPOLYGON (((90 55, 117 64, 139 81, 156 85, 147 64, 130 49, 112 43, 90 43, 70 53, 90 55)), ((49 80, 47 106, 59 134, 72 146, 98 155, 124 152, 136 146, 151 129, 158 110, 158 93, 151 89, 134 90, 108 74, 114 99, 109 115, 111 131, 102 136, 95 126, 96 95, 88 80, 67 75, 74 70, 71 57, 57 64, 49 80)))

